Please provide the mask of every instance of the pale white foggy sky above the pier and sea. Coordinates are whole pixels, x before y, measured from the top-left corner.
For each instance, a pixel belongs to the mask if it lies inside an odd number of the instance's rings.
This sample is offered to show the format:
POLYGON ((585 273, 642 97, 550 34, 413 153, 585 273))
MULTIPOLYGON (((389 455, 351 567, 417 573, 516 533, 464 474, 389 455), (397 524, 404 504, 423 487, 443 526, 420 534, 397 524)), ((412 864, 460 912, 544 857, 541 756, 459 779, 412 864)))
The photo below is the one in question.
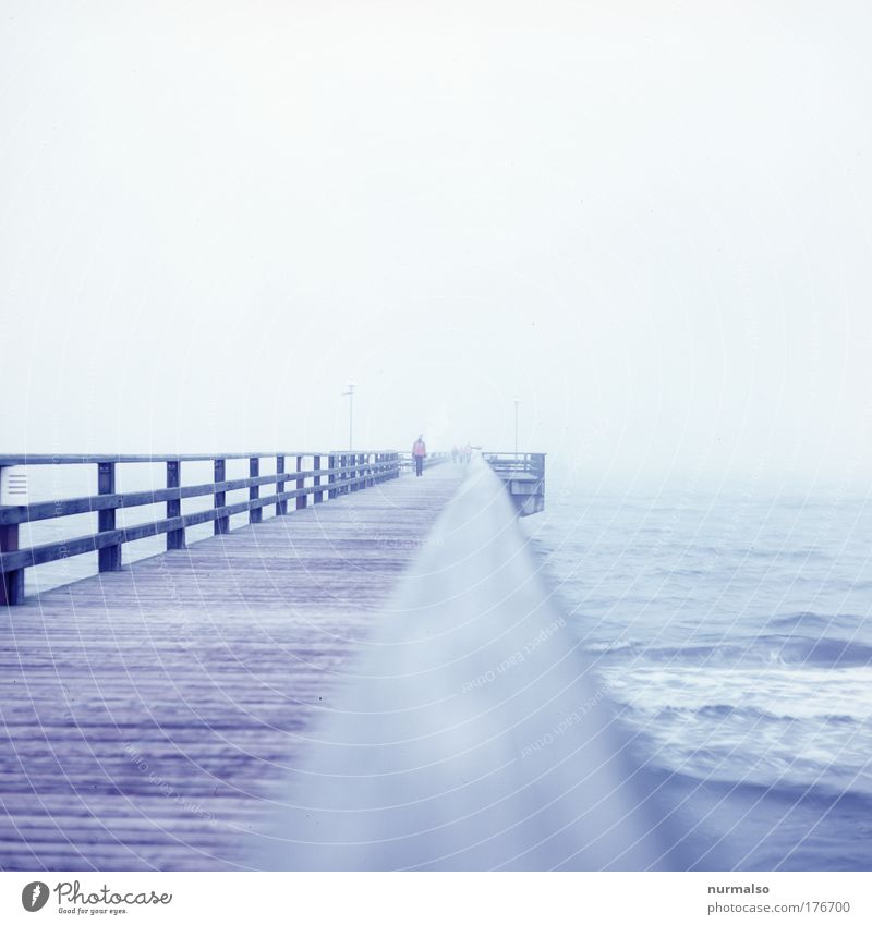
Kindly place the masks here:
POLYGON ((17 2, 3 452, 864 485, 859 2, 17 2))

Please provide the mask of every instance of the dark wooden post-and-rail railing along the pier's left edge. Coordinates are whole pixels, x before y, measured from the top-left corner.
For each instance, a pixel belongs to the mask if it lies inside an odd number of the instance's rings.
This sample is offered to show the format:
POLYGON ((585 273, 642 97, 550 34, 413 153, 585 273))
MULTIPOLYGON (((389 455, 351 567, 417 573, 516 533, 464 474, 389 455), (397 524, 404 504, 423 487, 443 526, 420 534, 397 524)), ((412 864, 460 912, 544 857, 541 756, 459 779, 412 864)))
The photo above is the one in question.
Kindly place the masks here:
POLYGON ((367 452, 284 452, 223 453, 220 455, 0 455, 0 476, 11 466, 95 465, 97 495, 62 498, 27 504, 0 504, 0 605, 24 600, 24 570, 97 552, 100 572, 121 568, 123 544, 166 534, 167 549, 185 547, 185 528, 214 523, 215 534, 230 531, 233 514, 249 514, 250 523, 259 523, 264 508, 275 504, 276 515, 288 513, 288 502, 305 508, 308 497, 314 504, 349 491, 360 491, 400 474, 400 454, 393 451, 367 452), (228 460, 249 460, 249 477, 226 477, 228 460), (276 472, 261 475, 261 461, 276 461, 276 472), (308 461, 311 460, 311 465, 308 461), (214 480, 197 485, 182 483, 186 462, 210 461, 214 480), (289 466, 289 461, 293 461, 289 466), (166 464, 166 488, 150 491, 116 491, 116 467, 122 463, 166 464), (290 486, 289 486, 290 483, 290 486), (269 495, 261 495, 264 486, 275 486, 269 495), (227 503, 227 492, 249 489, 247 500, 227 503), (211 507, 182 513, 182 500, 211 496, 211 507), (166 503, 166 516, 131 526, 117 527, 116 512, 145 504, 166 503), (19 548, 19 526, 37 521, 56 520, 72 514, 97 513, 97 533, 56 543, 19 548))

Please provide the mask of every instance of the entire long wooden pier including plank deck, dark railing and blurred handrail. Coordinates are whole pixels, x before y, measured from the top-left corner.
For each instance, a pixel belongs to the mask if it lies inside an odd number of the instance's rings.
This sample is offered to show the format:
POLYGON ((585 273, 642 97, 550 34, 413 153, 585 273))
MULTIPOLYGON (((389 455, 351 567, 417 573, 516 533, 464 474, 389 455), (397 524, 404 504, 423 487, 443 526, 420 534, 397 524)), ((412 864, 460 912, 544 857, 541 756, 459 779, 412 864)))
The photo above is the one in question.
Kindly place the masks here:
POLYGON ((221 458, 215 482, 193 486, 185 460, 166 459, 166 489, 118 494, 123 460, 88 458, 98 495, 0 508, 7 575, 63 555, 9 546, 10 528, 52 511, 97 506, 98 532, 65 544, 105 553, 98 574, 53 591, 16 598, 21 579, 5 584, 0 868, 711 860, 634 764, 498 454, 443 459, 416 478, 400 477, 398 453, 331 453, 326 467, 301 453, 272 474, 250 458, 247 478, 227 479, 221 458), (210 508, 184 511, 204 496, 210 508), (147 503, 167 516, 113 523, 147 503), (233 513, 250 523, 229 531, 233 513), (186 528, 207 522, 214 536, 189 545, 186 528), (124 565, 143 531, 166 534, 167 551, 124 565))

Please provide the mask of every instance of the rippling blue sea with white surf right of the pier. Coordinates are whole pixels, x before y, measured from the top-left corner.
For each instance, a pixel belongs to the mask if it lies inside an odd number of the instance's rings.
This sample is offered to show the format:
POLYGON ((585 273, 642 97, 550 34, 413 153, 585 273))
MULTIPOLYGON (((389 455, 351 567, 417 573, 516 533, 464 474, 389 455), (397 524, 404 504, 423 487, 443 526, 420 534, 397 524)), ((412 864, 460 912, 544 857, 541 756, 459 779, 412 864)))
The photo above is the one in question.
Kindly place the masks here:
POLYGON ((741 868, 872 867, 872 501, 557 486, 522 528, 686 825, 741 868))

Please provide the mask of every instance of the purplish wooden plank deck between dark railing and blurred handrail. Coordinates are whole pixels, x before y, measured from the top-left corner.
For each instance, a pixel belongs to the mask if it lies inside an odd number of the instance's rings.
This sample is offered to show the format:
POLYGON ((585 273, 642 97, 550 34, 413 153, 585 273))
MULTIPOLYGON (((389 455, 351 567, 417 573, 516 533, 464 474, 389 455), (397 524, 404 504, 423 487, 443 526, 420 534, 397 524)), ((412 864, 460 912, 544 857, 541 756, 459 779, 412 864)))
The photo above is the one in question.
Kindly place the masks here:
POLYGON ((0 611, 0 868, 244 866, 455 492, 441 465, 0 611))

